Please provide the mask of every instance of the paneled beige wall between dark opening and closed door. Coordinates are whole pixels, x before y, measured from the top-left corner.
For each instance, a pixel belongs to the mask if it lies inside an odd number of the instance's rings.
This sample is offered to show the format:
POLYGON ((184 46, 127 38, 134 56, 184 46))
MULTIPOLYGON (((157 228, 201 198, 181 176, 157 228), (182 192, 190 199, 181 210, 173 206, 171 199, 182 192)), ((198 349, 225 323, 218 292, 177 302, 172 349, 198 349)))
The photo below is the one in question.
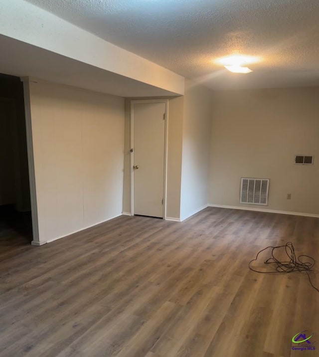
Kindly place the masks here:
POLYGON ((124 99, 30 82, 39 240, 122 212, 124 99))

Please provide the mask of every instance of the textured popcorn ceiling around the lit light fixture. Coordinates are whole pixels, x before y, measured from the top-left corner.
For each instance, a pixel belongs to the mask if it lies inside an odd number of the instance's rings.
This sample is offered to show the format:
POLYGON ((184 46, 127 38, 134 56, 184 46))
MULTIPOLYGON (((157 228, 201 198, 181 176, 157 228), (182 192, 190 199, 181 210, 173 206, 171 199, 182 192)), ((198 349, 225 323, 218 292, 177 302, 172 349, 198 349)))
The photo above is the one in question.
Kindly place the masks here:
POLYGON ((28 0, 212 89, 319 85, 319 0, 28 0), (212 62, 262 56, 250 74, 212 62))

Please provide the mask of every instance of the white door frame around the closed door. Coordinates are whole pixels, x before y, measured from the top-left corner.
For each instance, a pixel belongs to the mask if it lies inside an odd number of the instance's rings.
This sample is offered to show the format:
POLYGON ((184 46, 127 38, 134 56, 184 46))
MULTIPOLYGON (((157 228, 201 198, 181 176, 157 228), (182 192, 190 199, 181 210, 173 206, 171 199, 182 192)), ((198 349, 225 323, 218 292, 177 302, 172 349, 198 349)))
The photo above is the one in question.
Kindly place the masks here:
POLYGON ((139 99, 131 100, 131 215, 134 215, 134 105, 135 104, 151 104, 164 103, 165 104, 165 127, 164 127, 164 178, 163 178, 163 219, 166 219, 166 186, 167 186, 167 134, 168 134, 168 99, 139 99), (133 149, 133 152, 132 152, 133 149))

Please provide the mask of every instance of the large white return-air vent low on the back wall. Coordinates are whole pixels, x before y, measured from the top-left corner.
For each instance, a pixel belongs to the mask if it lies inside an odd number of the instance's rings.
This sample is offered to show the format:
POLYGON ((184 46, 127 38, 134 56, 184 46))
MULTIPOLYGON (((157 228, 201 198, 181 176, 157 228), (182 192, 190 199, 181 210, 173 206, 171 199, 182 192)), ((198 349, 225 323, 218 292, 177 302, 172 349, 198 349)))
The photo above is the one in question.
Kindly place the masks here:
POLYGON ((242 178, 240 185, 240 203, 268 204, 269 179, 242 178))

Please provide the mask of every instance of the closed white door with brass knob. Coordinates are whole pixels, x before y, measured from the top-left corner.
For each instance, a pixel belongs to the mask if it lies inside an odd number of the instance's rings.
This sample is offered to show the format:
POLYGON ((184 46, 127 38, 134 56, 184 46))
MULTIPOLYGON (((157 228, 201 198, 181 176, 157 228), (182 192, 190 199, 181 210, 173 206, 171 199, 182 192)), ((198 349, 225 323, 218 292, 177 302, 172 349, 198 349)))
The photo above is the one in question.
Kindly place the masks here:
POLYGON ((134 214, 163 217, 165 103, 134 103, 134 214))

